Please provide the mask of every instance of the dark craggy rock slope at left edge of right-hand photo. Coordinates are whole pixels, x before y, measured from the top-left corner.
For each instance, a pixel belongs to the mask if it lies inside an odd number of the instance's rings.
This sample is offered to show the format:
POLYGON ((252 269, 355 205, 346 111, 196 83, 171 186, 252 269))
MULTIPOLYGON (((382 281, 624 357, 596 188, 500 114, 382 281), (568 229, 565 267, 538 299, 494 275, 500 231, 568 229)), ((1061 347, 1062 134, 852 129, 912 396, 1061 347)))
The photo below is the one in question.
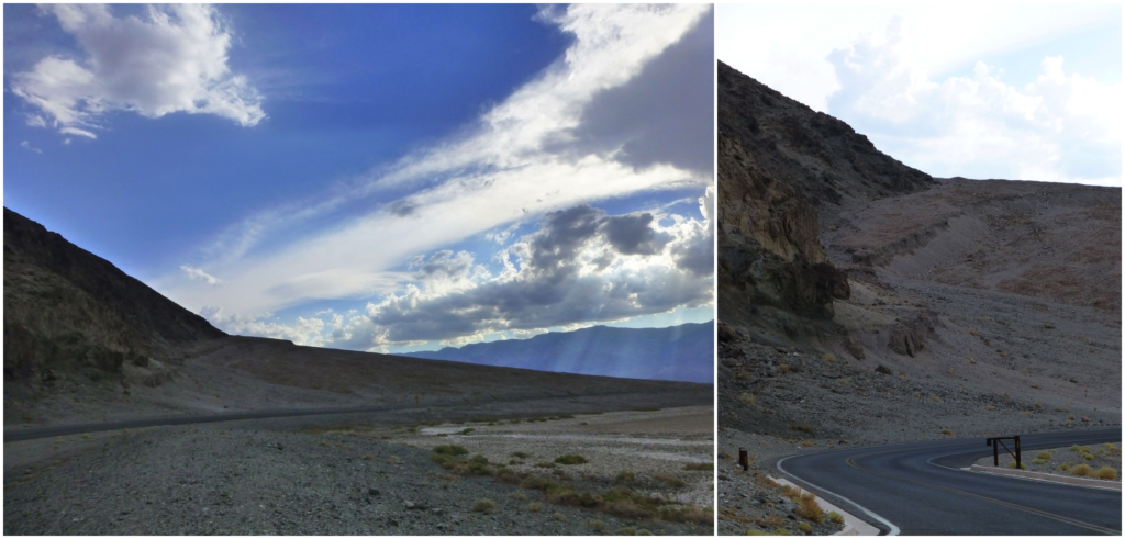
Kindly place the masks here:
POLYGON ((832 333, 812 321, 831 320, 832 300, 850 289, 821 225, 844 207, 933 181, 847 124, 719 62, 720 318, 763 342, 832 333))

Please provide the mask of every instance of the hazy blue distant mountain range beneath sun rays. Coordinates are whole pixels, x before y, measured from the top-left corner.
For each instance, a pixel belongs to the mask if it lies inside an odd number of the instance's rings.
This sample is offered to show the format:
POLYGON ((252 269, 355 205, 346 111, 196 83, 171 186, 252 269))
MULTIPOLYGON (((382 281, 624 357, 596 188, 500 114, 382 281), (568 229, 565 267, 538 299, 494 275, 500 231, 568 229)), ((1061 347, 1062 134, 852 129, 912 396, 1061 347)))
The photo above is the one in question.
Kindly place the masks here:
POLYGON ((498 367, 711 384, 714 380, 714 322, 672 327, 606 327, 544 333, 525 340, 494 341, 402 353, 498 367))

